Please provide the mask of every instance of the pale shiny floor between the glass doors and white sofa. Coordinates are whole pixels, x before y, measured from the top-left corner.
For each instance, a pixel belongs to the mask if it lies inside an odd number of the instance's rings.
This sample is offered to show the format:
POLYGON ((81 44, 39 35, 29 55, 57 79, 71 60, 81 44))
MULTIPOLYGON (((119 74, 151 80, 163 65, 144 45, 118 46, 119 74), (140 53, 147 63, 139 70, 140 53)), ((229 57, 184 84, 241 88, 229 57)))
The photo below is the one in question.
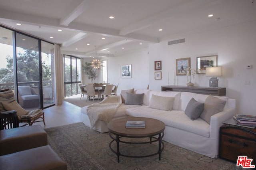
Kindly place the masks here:
POLYGON ((60 106, 52 106, 44 111, 44 123, 38 122, 33 125, 41 125, 43 128, 58 127, 81 122, 81 107, 63 101, 60 106))

